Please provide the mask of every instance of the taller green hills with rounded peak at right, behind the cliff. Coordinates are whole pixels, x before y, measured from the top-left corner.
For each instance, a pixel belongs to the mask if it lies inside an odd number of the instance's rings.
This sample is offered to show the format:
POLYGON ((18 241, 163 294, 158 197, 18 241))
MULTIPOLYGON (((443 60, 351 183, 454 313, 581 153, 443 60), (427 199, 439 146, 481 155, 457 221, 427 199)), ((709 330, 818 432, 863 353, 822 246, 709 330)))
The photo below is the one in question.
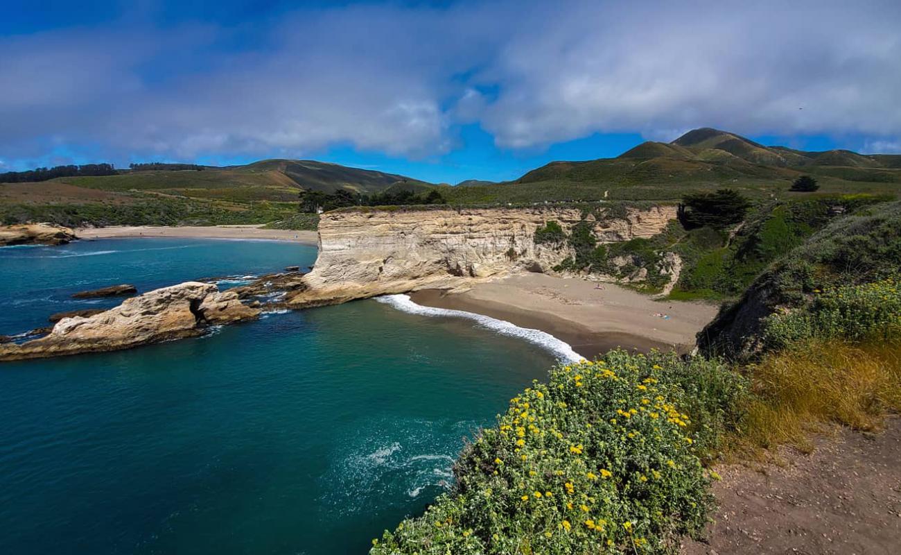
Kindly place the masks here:
POLYGON ((760 198, 783 194, 803 174, 814 175, 824 193, 896 194, 901 190, 901 154, 811 153, 704 127, 671 143, 639 144, 616 158, 551 162, 518 180, 457 188, 446 196, 460 204, 676 200, 693 190, 731 187, 760 198))

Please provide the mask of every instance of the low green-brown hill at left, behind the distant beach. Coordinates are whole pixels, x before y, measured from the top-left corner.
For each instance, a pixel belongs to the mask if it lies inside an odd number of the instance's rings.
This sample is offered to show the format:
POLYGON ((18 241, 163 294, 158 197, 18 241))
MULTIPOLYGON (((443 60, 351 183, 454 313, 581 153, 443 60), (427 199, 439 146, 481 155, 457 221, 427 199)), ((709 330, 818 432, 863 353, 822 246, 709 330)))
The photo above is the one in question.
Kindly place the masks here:
MULTIPOLYGON (((120 171, 0 183, 0 221, 67 226, 264 224, 296 221, 302 190, 371 195, 429 190, 421 180, 310 160, 263 160, 196 170, 120 171)), ((315 218, 304 218, 315 227, 315 218)))

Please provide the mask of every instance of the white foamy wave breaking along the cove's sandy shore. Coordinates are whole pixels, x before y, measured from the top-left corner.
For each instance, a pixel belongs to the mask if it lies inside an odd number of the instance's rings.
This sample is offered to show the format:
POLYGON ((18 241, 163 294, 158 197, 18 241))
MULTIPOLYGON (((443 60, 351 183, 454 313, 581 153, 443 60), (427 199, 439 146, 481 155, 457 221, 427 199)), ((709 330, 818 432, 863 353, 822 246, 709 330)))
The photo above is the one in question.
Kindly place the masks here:
POLYGON ((500 335, 510 338, 520 338, 542 347, 550 351, 552 355, 556 356, 562 362, 576 362, 584 358, 584 356, 581 356, 576 351, 572 350, 572 347, 569 347, 569 343, 561 341, 541 329, 520 328, 506 320, 495 319, 490 316, 476 314, 475 312, 467 312, 466 310, 423 307, 423 305, 416 304, 410 299, 410 295, 384 295, 382 297, 376 297, 376 301, 387 304, 397 310, 407 312, 408 314, 471 319, 482 328, 490 329, 500 335))

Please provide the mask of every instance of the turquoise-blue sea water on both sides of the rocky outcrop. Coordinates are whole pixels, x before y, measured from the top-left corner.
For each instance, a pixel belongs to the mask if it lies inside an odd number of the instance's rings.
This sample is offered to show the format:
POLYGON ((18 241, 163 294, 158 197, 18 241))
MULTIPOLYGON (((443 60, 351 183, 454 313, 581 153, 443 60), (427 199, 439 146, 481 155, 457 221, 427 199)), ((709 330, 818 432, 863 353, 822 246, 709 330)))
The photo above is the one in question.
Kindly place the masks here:
MULTIPOLYGON (((71 310, 71 291, 314 257, 175 239, 0 249, 0 333, 71 310), (50 258, 64 254, 78 255, 50 258)), ((357 301, 0 365, 0 553, 365 552, 443 491, 463 438, 552 363, 466 319, 357 301)))

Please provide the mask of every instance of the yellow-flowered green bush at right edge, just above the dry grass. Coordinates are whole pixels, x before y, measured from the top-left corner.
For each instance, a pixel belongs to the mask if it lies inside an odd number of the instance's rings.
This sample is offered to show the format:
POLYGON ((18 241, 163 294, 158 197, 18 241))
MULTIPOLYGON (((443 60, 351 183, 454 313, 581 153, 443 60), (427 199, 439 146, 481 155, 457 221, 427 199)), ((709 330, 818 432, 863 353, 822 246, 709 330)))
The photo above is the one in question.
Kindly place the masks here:
POLYGON ((784 348, 809 338, 887 340, 901 336, 901 284, 879 282, 814 291, 808 308, 769 316, 764 340, 784 348))

